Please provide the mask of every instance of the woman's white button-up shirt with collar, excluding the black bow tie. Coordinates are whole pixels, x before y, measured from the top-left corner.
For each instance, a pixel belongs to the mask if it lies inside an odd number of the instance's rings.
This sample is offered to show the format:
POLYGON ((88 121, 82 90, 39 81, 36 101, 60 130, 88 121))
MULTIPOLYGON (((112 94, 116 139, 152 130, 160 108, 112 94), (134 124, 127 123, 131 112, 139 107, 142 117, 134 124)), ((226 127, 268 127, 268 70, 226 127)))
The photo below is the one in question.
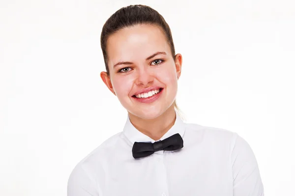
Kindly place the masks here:
POLYGON ((67 196, 264 196, 253 151, 236 133, 184 123, 178 114, 160 140, 176 133, 183 139, 180 150, 134 159, 135 141, 155 140, 127 117, 122 132, 73 169, 67 196))

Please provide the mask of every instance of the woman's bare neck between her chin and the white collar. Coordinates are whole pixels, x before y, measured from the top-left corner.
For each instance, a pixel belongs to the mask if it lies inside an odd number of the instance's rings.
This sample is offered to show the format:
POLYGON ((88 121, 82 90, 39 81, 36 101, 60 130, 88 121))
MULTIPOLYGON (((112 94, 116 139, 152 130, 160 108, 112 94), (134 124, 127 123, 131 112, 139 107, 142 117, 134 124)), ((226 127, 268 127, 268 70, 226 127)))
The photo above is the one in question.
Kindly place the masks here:
POLYGON ((176 120, 174 105, 153 119, 140 118, 129 112, 128 115, 133 126, 153 140, 161 139, 174 125, 176 120))

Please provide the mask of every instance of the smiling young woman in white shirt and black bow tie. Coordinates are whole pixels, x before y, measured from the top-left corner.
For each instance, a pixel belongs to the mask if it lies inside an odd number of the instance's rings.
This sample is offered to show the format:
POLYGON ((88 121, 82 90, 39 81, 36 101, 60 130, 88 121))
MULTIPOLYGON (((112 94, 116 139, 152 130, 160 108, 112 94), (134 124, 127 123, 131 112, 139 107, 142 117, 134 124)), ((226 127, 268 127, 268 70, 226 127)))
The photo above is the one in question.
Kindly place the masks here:
POLYGON ((101 78, 128 117, 123 131, 73 169, 68 196, 264 196, 248 143, 177 113, 182 56, 164 18, 145 5, 115 12, 101 33, 101 78))

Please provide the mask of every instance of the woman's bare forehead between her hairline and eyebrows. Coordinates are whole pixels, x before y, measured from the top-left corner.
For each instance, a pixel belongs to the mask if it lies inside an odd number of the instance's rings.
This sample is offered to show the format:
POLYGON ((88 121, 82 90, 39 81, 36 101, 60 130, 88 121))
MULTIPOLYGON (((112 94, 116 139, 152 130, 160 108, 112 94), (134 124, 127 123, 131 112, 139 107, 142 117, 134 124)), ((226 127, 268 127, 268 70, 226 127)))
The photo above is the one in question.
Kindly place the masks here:
POLYGON ((136 25, 122 28, 107 40, 109 64, 124 60, 142 60, 156 52, 171 54, 170 46, 161 28, 136 25))

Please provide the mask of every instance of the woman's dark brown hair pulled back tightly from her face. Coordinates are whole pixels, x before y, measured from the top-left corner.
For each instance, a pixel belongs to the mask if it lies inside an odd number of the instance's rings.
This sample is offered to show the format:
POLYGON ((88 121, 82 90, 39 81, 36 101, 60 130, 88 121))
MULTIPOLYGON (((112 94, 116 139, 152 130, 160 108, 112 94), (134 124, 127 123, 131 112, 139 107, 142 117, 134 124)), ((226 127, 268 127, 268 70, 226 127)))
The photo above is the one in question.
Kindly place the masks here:
MULTIPOLYGON (((105 61, 106 72, 110 75, 108 67, 108 55, 107 55, 107 40, 108 38, 122 28, 132 27, 135 25, 149 24, 160 27, 166 36, 167 42, 171 48, 171 54, 175 60, 175 48, 172 39, 172 33, 169 25, 164 20, 163 16, 156 10, 147 5, 129 5, 117 10, 104 24, 101 36, 100 45, 105 61)), ((179 113, 179 108, 174 101, 174 107, 179 113)))

